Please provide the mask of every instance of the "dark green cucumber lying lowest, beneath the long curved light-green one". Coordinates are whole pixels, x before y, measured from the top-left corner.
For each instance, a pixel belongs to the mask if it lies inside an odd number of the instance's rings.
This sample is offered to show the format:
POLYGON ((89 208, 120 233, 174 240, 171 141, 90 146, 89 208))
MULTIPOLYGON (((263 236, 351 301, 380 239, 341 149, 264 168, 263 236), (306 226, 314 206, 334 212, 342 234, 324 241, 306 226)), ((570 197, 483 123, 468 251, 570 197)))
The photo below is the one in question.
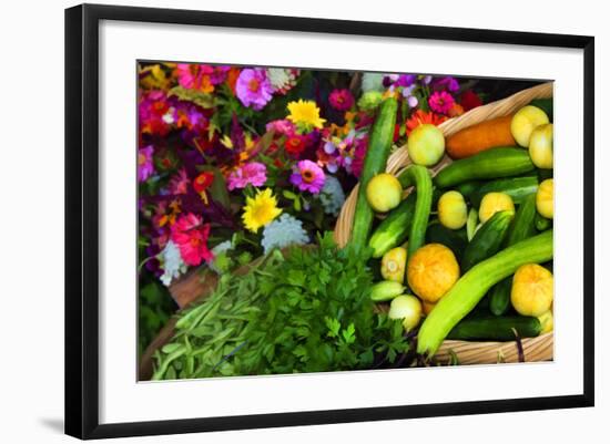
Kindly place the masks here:
POLYGON ((538 318, 528 316, 480 317, 462 319, 447 339, 461 341, 512 341, 515 329, 521 338, 536 338, 542 331, 538 318))

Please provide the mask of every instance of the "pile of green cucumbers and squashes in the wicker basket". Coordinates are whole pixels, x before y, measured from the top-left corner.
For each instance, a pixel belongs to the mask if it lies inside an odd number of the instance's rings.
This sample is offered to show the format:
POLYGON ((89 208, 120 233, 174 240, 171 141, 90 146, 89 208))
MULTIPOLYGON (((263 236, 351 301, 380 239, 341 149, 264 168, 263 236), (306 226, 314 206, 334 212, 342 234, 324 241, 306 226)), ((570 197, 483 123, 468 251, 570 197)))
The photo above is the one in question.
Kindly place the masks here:
POLYGON ((417 352, 434 355, 447 338, 507 341, 515 332, 538 335, 540 321, 512 311, 510 291, 519 267, 552 261, 552 219, 537 211, 539 184, 552 177, 552 168, 538 168, 527 147, 517 144, 456 159, 434 178, 425 166, 411 165, 398 177, 404 188, 413 186, 411 193, 385 217, 375 218, 364 190, 385 171, 396 110, 396 101, 386 99, 374 124, 350 242, 370 247, 375 258, 407 242, 407 264, 427 244, 441 244, 456 256, 460 277, 420 324, 417 352), (448 190, 460 193, 470 210, 460 229, 447 228, 437 218, 437 202, 448 190), (489 193, 510 196, 515 211, 500 210, 478 224, 477 211, 489 193))

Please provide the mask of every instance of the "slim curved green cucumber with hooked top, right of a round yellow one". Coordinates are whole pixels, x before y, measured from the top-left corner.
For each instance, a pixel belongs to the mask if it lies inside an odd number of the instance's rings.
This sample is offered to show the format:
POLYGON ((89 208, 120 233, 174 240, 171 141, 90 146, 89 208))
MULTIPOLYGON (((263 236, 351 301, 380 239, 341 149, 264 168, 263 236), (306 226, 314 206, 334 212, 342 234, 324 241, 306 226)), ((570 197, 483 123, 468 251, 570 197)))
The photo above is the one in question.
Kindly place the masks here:
POLYGON ((411 165, 406 172, 415 184, 417 199, 415 213, 409 228, 409 244, 407 246, 407 264, 415 251, 426 241, 426 228, 433 207, 433 180, 428 169, 420 165, 411 165))

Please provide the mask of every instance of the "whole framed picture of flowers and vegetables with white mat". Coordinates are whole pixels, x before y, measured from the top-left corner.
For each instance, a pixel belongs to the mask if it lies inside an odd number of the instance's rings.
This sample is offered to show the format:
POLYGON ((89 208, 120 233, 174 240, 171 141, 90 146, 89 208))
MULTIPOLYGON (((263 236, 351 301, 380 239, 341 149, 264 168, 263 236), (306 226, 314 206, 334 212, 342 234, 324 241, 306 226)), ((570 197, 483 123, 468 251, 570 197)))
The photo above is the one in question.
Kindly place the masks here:
POLYGON ((592 37, 68 9, 65 432, 593 405, 593 110, 592 37))

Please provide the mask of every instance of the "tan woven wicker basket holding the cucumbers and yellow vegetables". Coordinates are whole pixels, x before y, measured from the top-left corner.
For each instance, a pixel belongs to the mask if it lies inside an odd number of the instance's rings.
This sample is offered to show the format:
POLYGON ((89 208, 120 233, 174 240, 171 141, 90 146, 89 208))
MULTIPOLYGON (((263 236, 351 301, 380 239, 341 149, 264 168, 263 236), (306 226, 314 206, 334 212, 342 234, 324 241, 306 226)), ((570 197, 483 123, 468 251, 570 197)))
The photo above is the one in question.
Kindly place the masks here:
MULTIPOLYGON (((528 90, 520 91, 510 97, 478 106, 459 117, 450 118, 439 125, 445 136, 450 136, 458 131, 494 117, 501 117, 515 113, 527 105, 533 99, 547 99, 552 96, 552 83, 545 83, 528 90)), ((443 161, 433 168, 436 174, 451 159, 445 156, 443 161)), ((406 146, 396 149, 388 158, 386 172, 398 175, 411 164, 406 146)), ((335 240, 344 246, 349 240, 358 186, 354 187, 337 218, 335 226, 335 240)), ((526 361, 548 361, 553 357, 552 332, 537 338, 529 338, 521 341, 526 361)), ((516 342, 469 342, 469 341, 445 341, 437 352, 437 360, 446 362, 451 353, 455 353, 462 364, 488 364, 502 362, 517 362, 518 349, 516 342)))

